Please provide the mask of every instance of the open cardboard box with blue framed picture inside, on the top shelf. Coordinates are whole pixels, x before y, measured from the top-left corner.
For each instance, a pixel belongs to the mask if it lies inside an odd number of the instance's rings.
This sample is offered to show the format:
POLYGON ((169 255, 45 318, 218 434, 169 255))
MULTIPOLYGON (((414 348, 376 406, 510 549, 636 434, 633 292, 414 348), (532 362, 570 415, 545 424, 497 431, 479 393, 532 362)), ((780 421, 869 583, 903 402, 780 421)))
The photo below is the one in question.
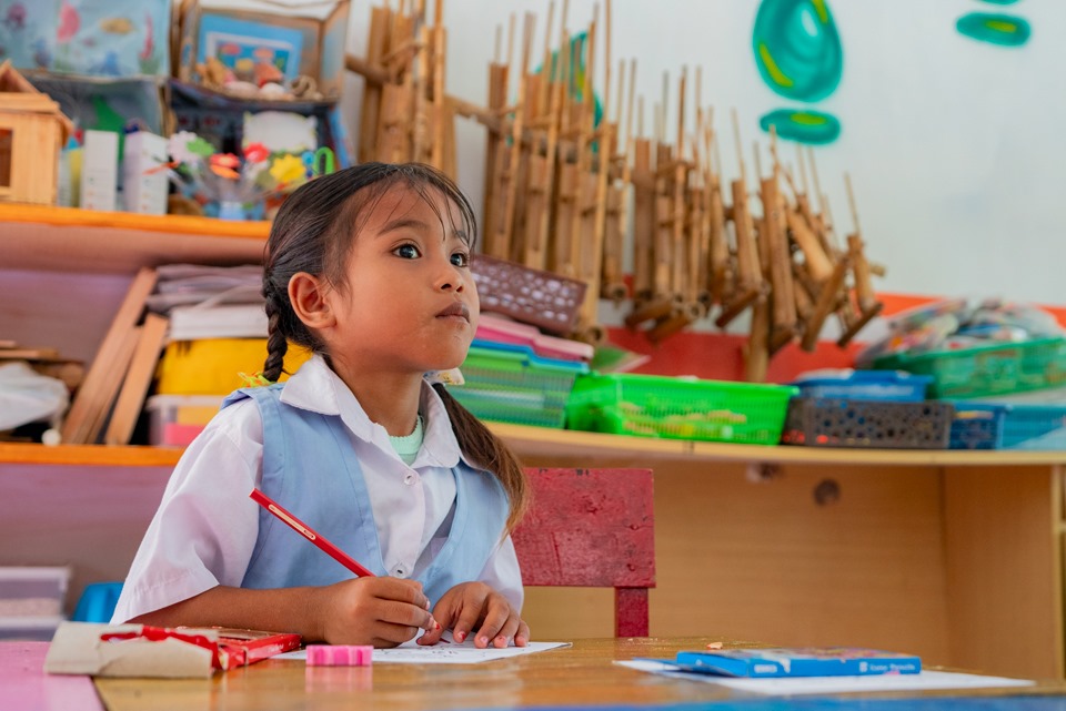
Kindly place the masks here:
POLYGON ((310 77, 325 100, 335 101, 344 80, 349 7, 350 0, 299 8, 265 0, 183 0, 178 79, 202 83, 197 64, 209 57, 239 75, 263 61, 281 70, 286 85, 310 77))

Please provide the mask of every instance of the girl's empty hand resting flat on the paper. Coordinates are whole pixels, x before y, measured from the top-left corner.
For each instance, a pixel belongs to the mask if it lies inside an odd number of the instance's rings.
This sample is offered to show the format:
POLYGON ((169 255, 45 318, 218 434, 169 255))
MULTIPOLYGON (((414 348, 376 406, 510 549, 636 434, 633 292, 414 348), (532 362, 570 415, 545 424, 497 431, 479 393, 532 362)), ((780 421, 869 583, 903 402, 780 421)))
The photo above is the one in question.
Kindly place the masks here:
POLYGON ((485 649, 516 647, 530 641, 530 627, 522 621, 507 599, 483 582, 464 582, 445 592, 433 609, 441 629, 431 629, 419 638, 419 644, 435 644, 444 629, 452 630, 456 642, 474 634, 474 647, 485 649), (476 631, 475 631, 476 630, 476 631))

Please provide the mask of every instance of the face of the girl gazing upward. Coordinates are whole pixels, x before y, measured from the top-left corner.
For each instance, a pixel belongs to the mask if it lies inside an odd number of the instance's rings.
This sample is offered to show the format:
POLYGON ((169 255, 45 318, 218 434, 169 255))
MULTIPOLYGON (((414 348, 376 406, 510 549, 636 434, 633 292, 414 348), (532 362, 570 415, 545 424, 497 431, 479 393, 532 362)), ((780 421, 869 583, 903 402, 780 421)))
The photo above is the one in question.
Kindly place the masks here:
POLYGON ((454 203, 398 185, 368 205, 348 257, 330 355, 353 375, 460 365, 477 327, 470 235, 454 203), (352 370, 353 369, 353 370, 352 370))

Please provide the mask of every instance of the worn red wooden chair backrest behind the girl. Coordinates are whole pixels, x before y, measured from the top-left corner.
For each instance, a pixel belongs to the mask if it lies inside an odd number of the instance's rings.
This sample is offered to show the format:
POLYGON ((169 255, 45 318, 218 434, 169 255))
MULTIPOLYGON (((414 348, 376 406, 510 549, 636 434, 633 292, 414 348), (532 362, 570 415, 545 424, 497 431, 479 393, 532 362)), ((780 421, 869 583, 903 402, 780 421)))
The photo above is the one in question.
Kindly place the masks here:
POLYGON ((615 589, 615 634, 646 637, 655 587, 650 469, 525 470, 533 505, 512 536, 527 586, 615 589))

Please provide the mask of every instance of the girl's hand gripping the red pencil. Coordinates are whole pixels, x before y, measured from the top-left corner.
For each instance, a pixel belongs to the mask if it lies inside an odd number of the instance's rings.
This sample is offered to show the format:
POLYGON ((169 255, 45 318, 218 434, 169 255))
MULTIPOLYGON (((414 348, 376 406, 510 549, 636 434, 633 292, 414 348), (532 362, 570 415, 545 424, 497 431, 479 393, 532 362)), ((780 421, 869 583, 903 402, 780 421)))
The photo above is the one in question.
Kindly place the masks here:
POLYGON ((312 629, 331 644, 395 647, 419 629, 440 633, 422 583, 400 578, 355 578, 314 588, 308 600, 312 629))

